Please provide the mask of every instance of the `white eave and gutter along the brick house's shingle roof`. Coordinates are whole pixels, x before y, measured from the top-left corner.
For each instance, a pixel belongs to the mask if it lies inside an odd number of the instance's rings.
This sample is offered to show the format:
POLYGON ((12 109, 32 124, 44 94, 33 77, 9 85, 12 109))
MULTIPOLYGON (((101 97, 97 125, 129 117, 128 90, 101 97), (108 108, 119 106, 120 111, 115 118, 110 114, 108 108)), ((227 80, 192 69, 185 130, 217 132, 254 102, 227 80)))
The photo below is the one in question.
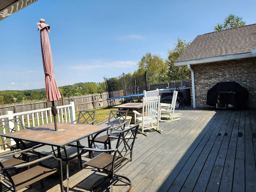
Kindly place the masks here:
POLYGON ((210 58, 203 58, 203 59, 197 59, 197 60, 188 60, 188 61, 175 62, 174 66, 187 66, 188 64, 196 65, 196 64, 226 61, 226 60, 233 60, 233 59, 250 58, 250 57, 256 57, 256 50, 252 50, 252 52, 244 53, 244 54, 233 54, 233 55, 210 57, 210 58))

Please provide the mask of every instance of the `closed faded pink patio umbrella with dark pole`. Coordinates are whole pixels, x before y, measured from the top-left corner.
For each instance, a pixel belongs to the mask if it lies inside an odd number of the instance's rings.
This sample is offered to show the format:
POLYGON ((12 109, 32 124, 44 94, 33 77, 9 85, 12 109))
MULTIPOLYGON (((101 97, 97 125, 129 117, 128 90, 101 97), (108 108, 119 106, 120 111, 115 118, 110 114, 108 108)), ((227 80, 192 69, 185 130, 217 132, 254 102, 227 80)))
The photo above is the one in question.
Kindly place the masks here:
POLYGON ((57 121, 56 121, 56 106, 54 101, 61 98, 56 80, 53 74, 53 62, 52 62, 52 51, 49 41, 48 32, 50 32, 50 26, 45 23, 44 19, 40 19, 40 23, 37 23, 38 30, 40 30, 41 39, 41 49, 42 49, 42 59, 45 74, 45 92, 48 101, 52 101, 52 114, 54 116, 55 130, 57 131, 57 121))

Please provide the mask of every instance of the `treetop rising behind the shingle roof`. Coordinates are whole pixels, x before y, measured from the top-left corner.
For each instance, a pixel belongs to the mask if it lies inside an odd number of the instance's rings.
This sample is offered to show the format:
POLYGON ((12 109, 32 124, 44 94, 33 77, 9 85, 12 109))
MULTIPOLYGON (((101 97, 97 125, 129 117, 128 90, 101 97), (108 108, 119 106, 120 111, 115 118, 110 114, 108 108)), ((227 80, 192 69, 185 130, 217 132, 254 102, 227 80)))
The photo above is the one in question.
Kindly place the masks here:
POLYGON ((236 27, 245 26, 245 22, 242 21, 242 17, 238 17, 233 14, 229 14, 225 19, 223 24, 217 24, 214 26, 214 31, 222 31, 226 29, 232 29, 236 27))

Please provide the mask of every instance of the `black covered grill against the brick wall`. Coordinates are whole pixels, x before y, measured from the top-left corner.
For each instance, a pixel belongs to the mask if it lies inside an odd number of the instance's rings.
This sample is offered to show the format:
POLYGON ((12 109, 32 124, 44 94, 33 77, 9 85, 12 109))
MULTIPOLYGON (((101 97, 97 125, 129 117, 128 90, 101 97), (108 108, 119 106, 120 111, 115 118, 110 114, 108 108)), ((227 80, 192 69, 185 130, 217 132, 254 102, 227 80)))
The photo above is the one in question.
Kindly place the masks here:
POLYGON ((206 104, 232 104, 236 109, 247 109, 248 96, 248 90, 237 82, 220 82, 208 90, 206 104))

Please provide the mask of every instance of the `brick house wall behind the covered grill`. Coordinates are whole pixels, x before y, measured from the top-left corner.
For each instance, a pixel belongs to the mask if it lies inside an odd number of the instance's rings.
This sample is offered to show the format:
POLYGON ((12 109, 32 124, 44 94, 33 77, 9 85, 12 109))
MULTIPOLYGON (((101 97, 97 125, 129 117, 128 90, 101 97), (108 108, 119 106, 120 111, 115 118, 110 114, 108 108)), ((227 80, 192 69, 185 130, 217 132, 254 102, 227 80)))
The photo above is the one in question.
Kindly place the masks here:
MULTIPOLYGON (((256 107, 256 58, 191 65, 194 70, 196 107, 206 105, 207 91, 218 82, 235 81, 249 92, 247 105, 256 107)), ((191 74, 190 74, 191 79, 191 74)), ((192 84, 190 82, 190 86, 192 84)), ((191 89, 192 96, 192 89, 191 89)), ((191 105, 192 104, 191 97, 191 105)))

